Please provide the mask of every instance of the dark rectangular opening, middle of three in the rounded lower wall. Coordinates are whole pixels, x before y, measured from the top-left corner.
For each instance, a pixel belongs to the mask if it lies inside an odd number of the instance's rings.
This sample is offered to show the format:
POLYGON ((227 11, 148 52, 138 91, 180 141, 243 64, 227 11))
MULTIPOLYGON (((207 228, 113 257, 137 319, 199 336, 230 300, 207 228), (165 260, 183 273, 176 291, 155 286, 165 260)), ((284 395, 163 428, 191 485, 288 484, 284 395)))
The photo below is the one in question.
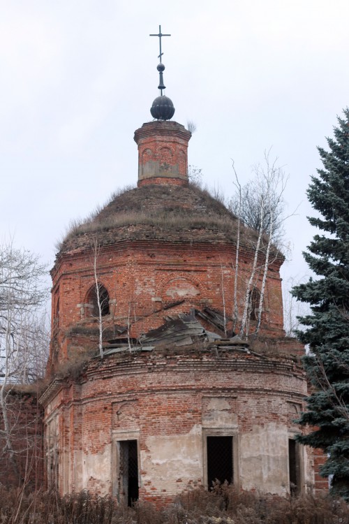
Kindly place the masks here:
POLYGON ((232 437, 207 437, 207 486, 233 480, 232 437))

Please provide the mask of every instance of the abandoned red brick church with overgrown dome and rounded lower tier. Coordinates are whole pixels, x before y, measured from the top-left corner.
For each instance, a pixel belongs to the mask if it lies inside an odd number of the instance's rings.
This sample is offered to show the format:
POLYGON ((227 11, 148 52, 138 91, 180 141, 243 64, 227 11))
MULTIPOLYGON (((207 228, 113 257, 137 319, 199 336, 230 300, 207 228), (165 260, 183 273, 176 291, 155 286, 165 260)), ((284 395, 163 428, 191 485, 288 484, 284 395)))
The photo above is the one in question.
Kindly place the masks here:
POLYGON ((316 488, 316 456, 295 441, 307 384, 304 349, 283 331, 283 256, 269 263, 258 337, 256 274, 242 340, 256 233, 241 226, 236 272, 237 218, 188 181, 191 133, 171 120, 163 69, 154 120, 135 131, 138 187, 70 231, 52 269, 47 483, 128 504, 216 479, 316 488))

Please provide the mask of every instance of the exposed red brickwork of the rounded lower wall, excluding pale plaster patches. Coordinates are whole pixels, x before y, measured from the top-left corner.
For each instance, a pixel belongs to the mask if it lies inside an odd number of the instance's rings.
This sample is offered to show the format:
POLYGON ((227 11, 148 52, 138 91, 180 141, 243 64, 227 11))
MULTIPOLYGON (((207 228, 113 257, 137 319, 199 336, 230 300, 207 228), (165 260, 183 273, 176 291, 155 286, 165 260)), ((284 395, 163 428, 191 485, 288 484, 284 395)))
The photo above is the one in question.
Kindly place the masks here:
MULTIPOLYGON (((70 464, 65 476, 76 482, 64 483, 61 479, 60 489, 87 487, 76 475, 77 468, 80 474, 83 469, 77 453, 102 457, 106 447, 112 446, 113 432, 139 430, 140 451, 150 460, 149 437, 172 435, 176 439, 176 435, 188 435, 193 428, 207 424, 210 414, 206 399, 215 396, 230 402, 230 424, 239 428, 239 435, 248 435, 256 427, 262 432, 269 424, 297 432, 289 404, 297 402, 302 407, 305 394, 304 373, 294 363, 265 361, 231 351, 221 351, 218 356, 214 350, 202 349, 182 355, 126 353, 91 361, 80 385, 66 383, 55 401, 54 409, 61 417, 59 449, 65 453, 65 458, 60 458, 61 468, 64 463, 70 464)), ((287 432, 285 435, 287 440, 287 432)), ((167 493, 164 481, 144 469, 145 462, 144 458, 140 464, 142 499, 173 496, 167 493)), ((103 473, 109 483, 101 483, 96 471, 89 470, 89 489, 111 493, 111 460, 106 467, 103 473)), ((188 483, 202 482, 198 474, 177 476, 174 482, 178 490, 188 483)))

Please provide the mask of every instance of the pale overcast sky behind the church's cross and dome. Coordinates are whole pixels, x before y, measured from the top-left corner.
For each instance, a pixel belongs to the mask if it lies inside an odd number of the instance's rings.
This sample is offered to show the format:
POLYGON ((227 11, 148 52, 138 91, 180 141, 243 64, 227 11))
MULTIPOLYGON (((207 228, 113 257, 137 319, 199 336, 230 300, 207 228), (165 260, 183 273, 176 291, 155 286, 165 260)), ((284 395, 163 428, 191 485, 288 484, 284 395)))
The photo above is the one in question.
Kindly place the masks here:
POLYGON ((315 230, 310 175, 349 105, 348 0, 0 0, 0 228, 43 256, 73 219, 137 182, 133 133, 158 96, 158 32, 189 163, 232 194, 272 147, 289 175, 292 261, 315 230))

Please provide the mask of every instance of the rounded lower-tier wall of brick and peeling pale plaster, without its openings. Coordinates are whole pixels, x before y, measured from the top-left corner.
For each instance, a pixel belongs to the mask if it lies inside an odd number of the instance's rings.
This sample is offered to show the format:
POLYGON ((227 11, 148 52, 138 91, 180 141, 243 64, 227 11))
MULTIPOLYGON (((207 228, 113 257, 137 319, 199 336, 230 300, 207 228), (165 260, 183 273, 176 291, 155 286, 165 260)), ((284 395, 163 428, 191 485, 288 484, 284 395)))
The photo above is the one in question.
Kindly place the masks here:
MULTIPOLYGON (((137 442, 143 499, 207 486, 207 437, 221 436, 231 437, 238 486, 288 493, 293 419, 306 395, 295 363, 239 349, 125 352, 95 359, 80 384, 57 381, 53 394, 47 423, 59 426, 64 493, 88 488, 122 498, 126 441, 137 442)), ((297 460, 300 488, 312 476, 304 450, 297 460)))

